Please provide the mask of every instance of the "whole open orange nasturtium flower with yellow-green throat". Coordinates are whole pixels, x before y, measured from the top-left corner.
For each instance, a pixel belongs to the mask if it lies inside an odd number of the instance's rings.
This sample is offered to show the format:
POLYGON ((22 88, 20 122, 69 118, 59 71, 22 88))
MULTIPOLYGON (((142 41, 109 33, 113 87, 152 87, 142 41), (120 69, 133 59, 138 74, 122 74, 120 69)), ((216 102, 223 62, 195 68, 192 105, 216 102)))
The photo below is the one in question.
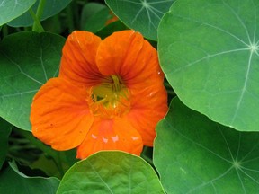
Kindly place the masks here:
POLYGON ((101 150, 139 155, 152 146, 165 117, 167 93, 156 49, 139 32, 104 40, 74 31, 63 48, 59 75, 31 104, 32 134, 56 150, 84 159, 101 150))

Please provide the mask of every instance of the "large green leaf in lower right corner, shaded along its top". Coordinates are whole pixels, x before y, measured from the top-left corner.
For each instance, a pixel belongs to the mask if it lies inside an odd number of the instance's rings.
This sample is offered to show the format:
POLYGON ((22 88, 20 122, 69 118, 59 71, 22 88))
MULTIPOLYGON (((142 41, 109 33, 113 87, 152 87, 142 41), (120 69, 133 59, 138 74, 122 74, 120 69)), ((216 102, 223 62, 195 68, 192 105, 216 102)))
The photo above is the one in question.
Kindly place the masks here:
POLYGON ((156 129, 154 163, 167 193, 259 192, 259 133, 221 126, 178 98, 156 129))

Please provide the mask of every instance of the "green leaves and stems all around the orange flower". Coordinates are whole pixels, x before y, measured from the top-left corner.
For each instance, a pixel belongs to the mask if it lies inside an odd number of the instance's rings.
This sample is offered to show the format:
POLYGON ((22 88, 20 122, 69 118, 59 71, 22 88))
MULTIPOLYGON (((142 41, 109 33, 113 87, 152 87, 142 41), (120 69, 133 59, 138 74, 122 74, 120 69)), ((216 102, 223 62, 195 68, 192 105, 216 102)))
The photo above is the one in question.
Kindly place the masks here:
POLYGON ((1 193, 258 193, 259 2, 0 0, 1 193), (116 22, 107 24, 114 15, 116 22), (75 30, 140 31, 157 48, 170 109, 141 157, 85 160, 31 135, 33 95, 75 30), (15 185, 15 187, 13 186, 15 185))

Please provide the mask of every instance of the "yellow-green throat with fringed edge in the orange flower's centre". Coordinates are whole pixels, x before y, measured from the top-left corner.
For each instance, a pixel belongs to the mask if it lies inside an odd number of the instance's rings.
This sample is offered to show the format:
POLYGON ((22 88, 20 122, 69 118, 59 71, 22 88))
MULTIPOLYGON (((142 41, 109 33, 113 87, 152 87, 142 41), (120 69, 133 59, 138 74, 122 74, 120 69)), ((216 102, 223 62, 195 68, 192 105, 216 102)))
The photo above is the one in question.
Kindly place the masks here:
POLYGON ((128 112, 129 90, 116 75, 105 77, 102 84, 93 87, 90 109, 94 116, 113 118, 128 112))

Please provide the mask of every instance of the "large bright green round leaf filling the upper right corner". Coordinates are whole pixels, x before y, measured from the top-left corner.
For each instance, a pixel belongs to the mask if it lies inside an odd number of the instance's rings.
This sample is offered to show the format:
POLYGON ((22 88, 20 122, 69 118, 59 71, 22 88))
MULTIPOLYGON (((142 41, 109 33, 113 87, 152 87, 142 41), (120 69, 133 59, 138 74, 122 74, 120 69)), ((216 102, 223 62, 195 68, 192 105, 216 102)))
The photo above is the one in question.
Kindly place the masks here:
POLYGON ((259 1, 182 0, 158 29, 161 66, 181 101, 241 131, 259 130, 258 15, 259 1))

